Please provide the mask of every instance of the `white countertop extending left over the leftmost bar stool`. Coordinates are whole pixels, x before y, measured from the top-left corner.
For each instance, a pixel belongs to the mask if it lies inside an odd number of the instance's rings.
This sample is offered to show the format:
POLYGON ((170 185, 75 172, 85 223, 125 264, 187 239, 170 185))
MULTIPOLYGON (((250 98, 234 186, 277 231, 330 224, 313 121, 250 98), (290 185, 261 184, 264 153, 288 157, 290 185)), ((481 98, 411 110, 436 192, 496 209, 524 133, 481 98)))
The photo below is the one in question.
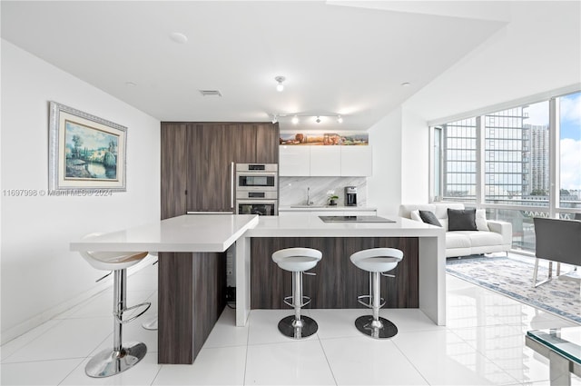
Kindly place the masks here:
POLYGON ((71 251, 223 252, 259 223, 256 214, 182 215, 71 242, 71 251))

